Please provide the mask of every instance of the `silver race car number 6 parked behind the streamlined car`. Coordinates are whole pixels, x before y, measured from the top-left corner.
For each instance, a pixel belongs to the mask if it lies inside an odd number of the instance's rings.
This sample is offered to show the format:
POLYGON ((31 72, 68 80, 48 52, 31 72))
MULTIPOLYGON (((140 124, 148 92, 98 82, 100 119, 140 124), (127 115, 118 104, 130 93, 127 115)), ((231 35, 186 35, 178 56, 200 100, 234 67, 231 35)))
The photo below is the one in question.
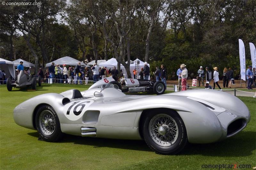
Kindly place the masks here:
POLYGON ((94 83, 89 89, 100 88, 103 84, 114 84, 116 89, 122 90, 124 93, 136 93, 136 92, 154 92, 157 95, 162 95, 166 89, 164 82, 151 81, 143 79, 128 79, 121 78, 115 81, 112 76, 106 77, 100 81, 94 83))

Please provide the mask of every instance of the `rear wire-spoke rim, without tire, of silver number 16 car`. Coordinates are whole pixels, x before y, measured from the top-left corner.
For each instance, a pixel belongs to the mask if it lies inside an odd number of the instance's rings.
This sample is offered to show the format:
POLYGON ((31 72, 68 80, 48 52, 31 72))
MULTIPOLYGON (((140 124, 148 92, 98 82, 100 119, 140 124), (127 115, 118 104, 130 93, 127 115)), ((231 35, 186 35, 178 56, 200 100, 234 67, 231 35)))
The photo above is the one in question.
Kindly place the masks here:
POLYGON ((51 135, 55 131, 56 120, 51 111, 44 110, 40 114, 39 127, 45 135, 51 135))

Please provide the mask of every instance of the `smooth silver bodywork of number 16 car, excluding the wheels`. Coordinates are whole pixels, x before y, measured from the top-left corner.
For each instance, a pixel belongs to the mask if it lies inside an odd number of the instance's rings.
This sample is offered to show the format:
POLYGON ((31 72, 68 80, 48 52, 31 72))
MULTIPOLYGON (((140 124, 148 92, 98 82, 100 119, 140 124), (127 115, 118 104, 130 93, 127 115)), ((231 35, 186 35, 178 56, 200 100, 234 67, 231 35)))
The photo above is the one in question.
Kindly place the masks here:
POLYGON ((43 94, 19 104, 14 109, 16 124, 35 129, 36 108, 48 104, 57 113, 63 133, 84 136, 88 131, 88 136, 93 136, 96 131, 94 136, 99 138, 142 139, 139 131, 142 113, 156 108, 159 108, 156 113, 161 113, 160 108, 167 108, 175 110, 182 118, 190 143, 212 143, 235 135, 250 121, 250 112, 241 100, 214 90, 151 96, 95 88, 81 92, 83 98, 78 99, 72 99, 72 93, 73 90, 43 94), (95 92, 101 97, 95 97, 95 92), (63 102, 68 101, 67 98, 70 102, 63 102), (240 122, 239 127, 228 134, 228 126, 236 120, 240 122))

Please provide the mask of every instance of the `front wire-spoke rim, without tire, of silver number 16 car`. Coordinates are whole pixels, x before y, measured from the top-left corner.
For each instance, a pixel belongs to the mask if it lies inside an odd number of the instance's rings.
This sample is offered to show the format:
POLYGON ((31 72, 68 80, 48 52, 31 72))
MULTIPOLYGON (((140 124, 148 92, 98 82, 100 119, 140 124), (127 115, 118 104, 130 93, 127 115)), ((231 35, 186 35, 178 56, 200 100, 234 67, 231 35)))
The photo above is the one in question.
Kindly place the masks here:
POLYGON ((157 114, 149 122, 149 134, 153 141, 161 146, 171 146, 178 138, 176 121, 167 114, 157 114))

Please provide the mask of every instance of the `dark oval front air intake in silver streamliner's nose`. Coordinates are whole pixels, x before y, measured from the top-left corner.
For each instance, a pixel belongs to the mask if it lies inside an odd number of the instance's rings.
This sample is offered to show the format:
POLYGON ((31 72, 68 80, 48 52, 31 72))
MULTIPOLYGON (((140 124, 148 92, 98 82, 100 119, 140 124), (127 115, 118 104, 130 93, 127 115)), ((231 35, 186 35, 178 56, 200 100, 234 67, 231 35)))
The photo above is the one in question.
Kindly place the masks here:
POLYGON ((244 129, 246 125, 246 120, 245 119, 237 119, 231 124, 228 125, 228 131, 227 131, 227 137, 230 137, 237 132, 241 131, 244 129))

